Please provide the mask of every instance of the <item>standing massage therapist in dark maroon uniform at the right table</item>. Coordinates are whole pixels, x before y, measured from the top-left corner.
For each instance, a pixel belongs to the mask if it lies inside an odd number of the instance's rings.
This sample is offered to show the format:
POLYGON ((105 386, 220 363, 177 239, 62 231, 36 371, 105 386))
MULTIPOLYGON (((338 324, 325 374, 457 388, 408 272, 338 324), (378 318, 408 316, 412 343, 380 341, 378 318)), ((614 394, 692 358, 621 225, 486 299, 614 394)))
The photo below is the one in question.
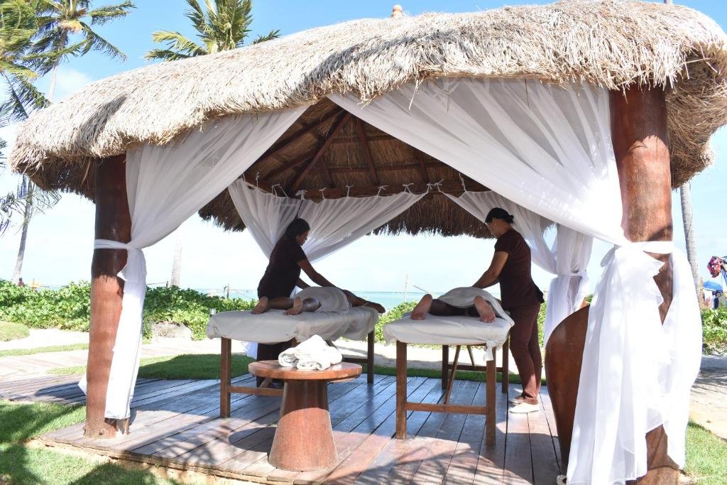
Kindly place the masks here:
POLYGON ((518 231, 513 229, 514 217, 505 209, 495 207, 485 218, 493 236, 495 253, 490 267, 473 285, 486 288, 499 282, 502 308, 510 313, 515 326, 510 329, 510 352, 518 366, 523 393, 510 401, 510 412, 539 410, 538 395, 542 376, 542 356, 538 342, 538 313, 543 294, 530 273, 530 248, 518 231))

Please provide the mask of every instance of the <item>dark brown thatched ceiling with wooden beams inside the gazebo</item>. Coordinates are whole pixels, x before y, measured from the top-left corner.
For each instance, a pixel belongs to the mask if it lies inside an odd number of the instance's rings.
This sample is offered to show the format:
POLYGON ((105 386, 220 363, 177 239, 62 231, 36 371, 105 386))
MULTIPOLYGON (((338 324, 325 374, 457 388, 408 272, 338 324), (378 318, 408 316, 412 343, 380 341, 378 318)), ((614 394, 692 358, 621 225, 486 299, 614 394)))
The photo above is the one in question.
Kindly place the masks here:
MULTIPOLYGON (((442 195, 487 188, 327 99, 310 106, 243 177, 278 196, 305 191, 313 200, 429 191, 377 233, 491 237, 483 223, 442 195)), ((199 213, 225 229, 244 228, 227 191, 199 213)))

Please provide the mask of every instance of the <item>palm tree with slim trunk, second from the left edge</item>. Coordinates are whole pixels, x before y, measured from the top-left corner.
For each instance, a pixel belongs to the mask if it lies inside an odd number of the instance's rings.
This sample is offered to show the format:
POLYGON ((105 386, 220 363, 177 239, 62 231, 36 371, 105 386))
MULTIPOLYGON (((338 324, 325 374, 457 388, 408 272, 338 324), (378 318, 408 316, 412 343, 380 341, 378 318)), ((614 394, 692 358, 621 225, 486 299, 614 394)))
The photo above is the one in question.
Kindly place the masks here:
POLYGON ((41 74, 51 73, 48 99, 55 95, 58 65, 69 55, 82 56, 92 50, 111 58, 126 60, 126 55, 98 35, 92 25, 103 25, 129 15, 132 1, 92 8, 91 0, 39 0, 38 36, 33 46, 33 67, 41 74), (90 20, 90 23, 89 23, 90 20), (73 41, 73 43, 71 43, 73 41))

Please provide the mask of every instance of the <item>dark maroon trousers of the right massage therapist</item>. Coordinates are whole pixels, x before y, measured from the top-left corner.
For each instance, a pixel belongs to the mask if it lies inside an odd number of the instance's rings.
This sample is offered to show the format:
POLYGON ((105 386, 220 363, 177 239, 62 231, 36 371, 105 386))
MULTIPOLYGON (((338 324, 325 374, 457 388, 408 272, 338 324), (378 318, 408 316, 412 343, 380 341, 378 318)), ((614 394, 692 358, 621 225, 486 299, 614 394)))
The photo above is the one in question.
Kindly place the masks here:
POLYGON ((508 311, 515 321, 510 329, 510 352, 513 353, 523 383, 523 398, 528 404, 538 404, 543 365, 538 342, 540 305, 510 308, 508 311))

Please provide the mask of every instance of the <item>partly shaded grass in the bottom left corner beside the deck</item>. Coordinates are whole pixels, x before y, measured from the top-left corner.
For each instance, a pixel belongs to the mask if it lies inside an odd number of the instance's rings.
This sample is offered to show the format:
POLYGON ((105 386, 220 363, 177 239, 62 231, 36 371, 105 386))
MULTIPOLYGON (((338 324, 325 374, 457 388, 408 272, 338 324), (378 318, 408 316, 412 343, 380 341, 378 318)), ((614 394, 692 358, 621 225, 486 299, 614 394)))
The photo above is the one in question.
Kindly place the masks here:
POLYGON ((84 406, 0 401, 0 484, 152 485, 179 482, 146 470, 129 470, 100 458, 84 458, 27 441, 84 420, 84 406))

